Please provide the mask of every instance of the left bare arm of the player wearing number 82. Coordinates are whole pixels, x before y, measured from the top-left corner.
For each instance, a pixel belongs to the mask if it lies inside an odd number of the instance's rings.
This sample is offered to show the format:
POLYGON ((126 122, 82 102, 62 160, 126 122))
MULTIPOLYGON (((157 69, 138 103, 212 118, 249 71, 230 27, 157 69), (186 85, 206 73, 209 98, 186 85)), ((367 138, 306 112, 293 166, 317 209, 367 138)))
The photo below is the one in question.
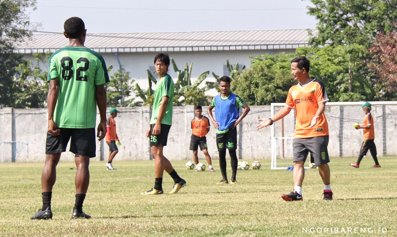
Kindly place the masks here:
POLYGON ((50 88, 48 89, 47 95, 47 106, 48 106, 48 132, 52 136, 58 136, 60 129, 58 129, 56 123, 54 122, 54 111, 56 101, 58 100, 58 78, 50 80, 50 88))

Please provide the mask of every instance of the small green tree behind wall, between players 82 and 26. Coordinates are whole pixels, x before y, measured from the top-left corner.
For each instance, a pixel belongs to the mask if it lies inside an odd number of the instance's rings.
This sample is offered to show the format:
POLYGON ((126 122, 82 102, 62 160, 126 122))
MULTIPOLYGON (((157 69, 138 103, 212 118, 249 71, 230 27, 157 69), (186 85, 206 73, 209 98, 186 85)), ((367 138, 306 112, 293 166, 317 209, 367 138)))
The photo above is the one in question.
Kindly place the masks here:
MULTIPOLYGON (((113 66, 109 66, 108 72, 112 70, 113 66)), ((117 70, 112 76, 110 76, 110 82, 106 84, 106 97, 108 98, 108 106, 126 106, 131 104, 131 101, 124 101, 125 97, 128 97, 133 90, 131 86, 134 80, 131 80, 129 72, 125 71, 125 68, 117 70)))

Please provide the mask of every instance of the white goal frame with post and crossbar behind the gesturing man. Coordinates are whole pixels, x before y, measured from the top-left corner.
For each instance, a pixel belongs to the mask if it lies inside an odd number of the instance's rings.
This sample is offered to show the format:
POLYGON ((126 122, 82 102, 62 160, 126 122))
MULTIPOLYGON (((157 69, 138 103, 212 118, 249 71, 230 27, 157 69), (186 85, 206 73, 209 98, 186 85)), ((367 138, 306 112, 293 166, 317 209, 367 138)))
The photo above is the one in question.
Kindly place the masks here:
MULTIPOLYGON (((371 105, 397 105, 397 101, 369 101, 371 105)), ((362 105, 365 101, 358 102, 327 102, 327 106, 343 106, 343 105, 362 105)), ((270 104, 270 117, 274 116, 275 107, 284 107, 285 103, 271 103, 270 104)), ((294 115, 295 116, 295 115, 294 115)), ((272 161, 270 163, 270 169, 287 169, 288 167, 277 167, 277 140, 278 139, 293 139, 293 137, 276 137, 276 131, 274 126, 271 127, 271 141, 272 141, 272 161)), ((309 167, 304 167, 309 169, 309 167)))

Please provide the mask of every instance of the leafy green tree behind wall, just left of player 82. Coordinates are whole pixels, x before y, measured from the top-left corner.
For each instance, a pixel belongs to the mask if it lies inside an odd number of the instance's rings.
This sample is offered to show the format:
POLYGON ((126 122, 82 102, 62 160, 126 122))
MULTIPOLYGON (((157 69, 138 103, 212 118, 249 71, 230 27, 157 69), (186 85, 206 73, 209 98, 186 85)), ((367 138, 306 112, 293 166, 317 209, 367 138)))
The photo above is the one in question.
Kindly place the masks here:
POLYGON ((42 72, 39 63, 47 63, 51 52, 33 53, 32 61, 23 61, 13 77, 12 97, 15 108, 44 108, 48 93, 47 72, 42 72))

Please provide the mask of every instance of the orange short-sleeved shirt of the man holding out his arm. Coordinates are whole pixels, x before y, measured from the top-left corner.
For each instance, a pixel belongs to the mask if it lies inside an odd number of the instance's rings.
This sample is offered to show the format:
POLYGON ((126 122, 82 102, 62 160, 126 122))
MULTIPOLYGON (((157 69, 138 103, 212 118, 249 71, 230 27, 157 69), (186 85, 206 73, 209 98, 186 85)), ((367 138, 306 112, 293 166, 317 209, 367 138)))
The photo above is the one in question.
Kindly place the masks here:
POLYGON ((316 125, 309 128, 314 115, 316 115, 318 104, 328 100, 324 84, 314 78, 304 86, 297 83, 289 88, 285 104, 290 108, 295 107, 295 138, 328 135, 328 123, 324 113, 317 119, 316 125))

